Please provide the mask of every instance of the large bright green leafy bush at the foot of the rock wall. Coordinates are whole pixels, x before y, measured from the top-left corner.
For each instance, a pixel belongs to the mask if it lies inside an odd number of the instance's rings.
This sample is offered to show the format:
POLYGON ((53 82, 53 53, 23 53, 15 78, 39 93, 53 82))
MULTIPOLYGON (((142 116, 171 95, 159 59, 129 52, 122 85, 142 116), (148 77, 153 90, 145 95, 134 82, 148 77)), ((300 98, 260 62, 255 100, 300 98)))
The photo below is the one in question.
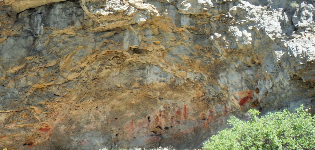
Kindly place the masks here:
POLYGON ((251 121, 235 116, 228 120, 231 129, 220 131, 203 144, 204 150, 310 150, 315 149, 315 118, 303 105, 295 112, 268 113, 249 110, 251 121))

